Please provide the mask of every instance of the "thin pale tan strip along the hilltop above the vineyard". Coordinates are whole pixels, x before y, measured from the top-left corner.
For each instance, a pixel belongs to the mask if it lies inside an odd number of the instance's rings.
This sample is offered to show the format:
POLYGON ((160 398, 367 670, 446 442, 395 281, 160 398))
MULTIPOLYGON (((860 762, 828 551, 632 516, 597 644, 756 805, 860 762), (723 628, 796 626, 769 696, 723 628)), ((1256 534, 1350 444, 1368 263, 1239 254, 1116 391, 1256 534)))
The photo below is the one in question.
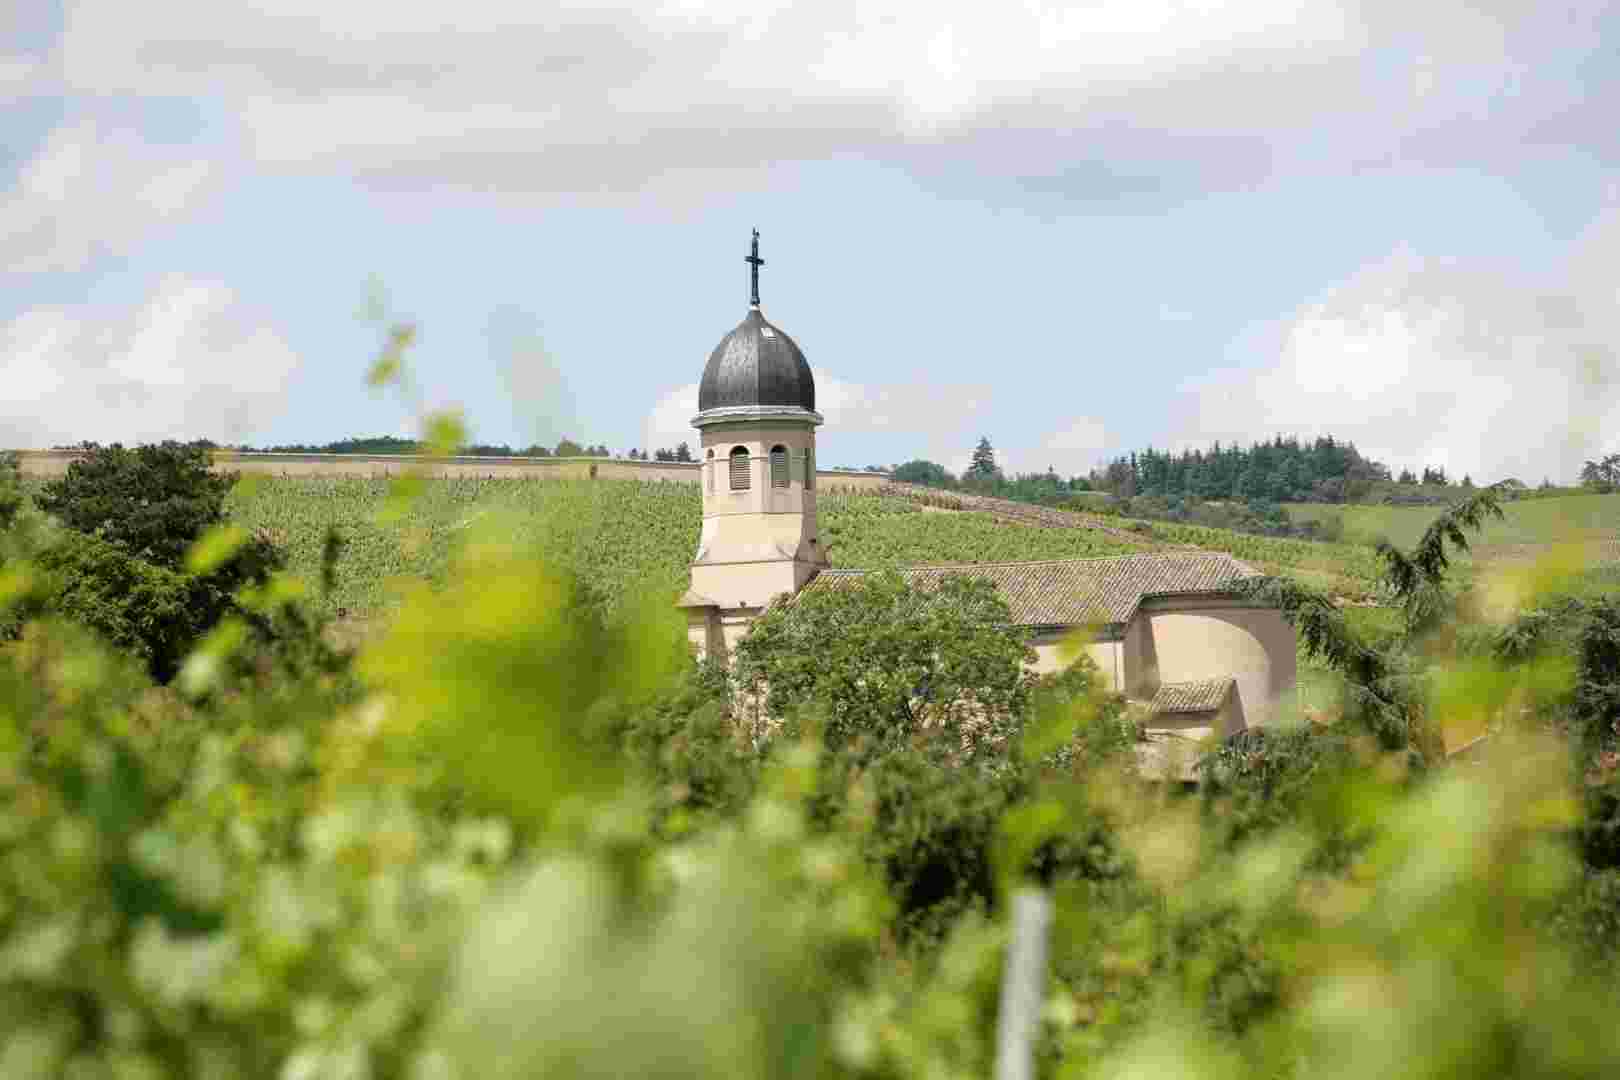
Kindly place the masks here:
MULTIPOLYGON (((68 463, 81 457, 76 450, 18 450, 18 466, 24 476, 62 476, 68 463)), ((697 461, 630 461, 627 458, 494 458, 369 453, 214 453, 214 466, 237 473, 269 473, 272 476, 392 476, 407 470, 423 470, 436 478, 480 476, 489 479, 635 479, 697 484, 697 461)), ((844 473, 818 470, 823 491, 876 491, 886 483, 878 473, 844 473)))

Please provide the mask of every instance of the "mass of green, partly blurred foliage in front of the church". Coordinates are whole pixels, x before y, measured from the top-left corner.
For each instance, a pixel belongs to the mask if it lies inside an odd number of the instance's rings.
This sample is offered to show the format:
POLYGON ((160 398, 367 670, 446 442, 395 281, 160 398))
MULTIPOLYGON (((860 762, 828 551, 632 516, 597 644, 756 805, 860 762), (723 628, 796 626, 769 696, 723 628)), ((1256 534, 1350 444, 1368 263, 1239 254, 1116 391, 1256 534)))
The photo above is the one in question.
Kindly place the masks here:
MULTIPOLYGON (((1602 1075, 1620 1054, 1614 882, 1576 865, 1568 746, 1505 737, 1416 772, 1348 730, 1267 733, 1178 797, 1134 779, 1129 717, 1081 662, 1025 683, 1004 746, 966 764, 841 733, 850 680, 815 672, 758 751, 661 601, 526 554, 596 536, 608 507, 570 505, 598 520, 541 536, 491 512, 446 539, 358 687, 287 665, 188 701, 52 619, 0 651, 6 1075, 983 1077, 1024 881, 1058 907, 1040 1075, 1602 1075)), ((248 609, 296 610, 277 581, 248 609)), ((962 685, 1019 669, 972 589, 873 581, 800 643, 855 672, 852 709, 897 696, 859 685, 883 672, 846 640, 962 685), (867 607, 902 630, 862 628, 867 607), (930 667, 928 633, 975 644, 930 667)), ((1430 708, 1516 709, 1513 672, 1586 641, 1560 699, 1602 753, 1620 617, 1599 599, 1481 638, 1430 708)), ((1294 601, 1322 648, 1348 633, 1294 601)))

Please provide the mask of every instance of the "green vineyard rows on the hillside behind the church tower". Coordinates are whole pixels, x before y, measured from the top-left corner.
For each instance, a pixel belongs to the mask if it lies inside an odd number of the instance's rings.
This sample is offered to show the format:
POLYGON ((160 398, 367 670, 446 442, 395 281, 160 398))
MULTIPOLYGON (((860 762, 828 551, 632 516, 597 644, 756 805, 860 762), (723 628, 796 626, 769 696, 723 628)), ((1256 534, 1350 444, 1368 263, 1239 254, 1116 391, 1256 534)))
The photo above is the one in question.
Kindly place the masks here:
MULTIPOLYGON (((408 512, 390 515, 390 505, 389 481, 371 478, 248 478, 232 494, 232 517, 266 531, 290 570, 311 583, 327 529, 339 529, 345 549, 324 604, 348 614, 389 607, 395 581, 442 581, 457 544, 480 529, 544 552, 609 602, 643 589, 679 593, 703 513, 693 484, 635 481, 436 479, 426 481, 408 512)), ((987 512, 930 512, 894 494, 823 494, 818 510, 839 567, 1087 559, 1196 546, 1349 596, 1366 594, 1375 576, 1371 549, 1354 544, 1162 523, 1140 534, 1064 528, 987 512)))

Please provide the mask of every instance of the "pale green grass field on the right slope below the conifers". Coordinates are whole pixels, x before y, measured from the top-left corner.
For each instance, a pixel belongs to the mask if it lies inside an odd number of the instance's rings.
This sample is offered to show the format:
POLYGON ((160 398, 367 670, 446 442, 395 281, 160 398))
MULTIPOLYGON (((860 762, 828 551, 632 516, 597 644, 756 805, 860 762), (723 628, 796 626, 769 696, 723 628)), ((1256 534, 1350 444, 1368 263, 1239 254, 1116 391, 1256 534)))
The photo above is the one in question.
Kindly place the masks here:
MULTIPOLYGON (((1560 495, 1523 499, 1503 505, 1507 518, 1492 521, 1479 539, 1489 547, 1552 544, 1563 539, 1612 539, 1620 531, 1620 494, 1560 495)), ((1382 538, 1409 547, 1440 512, 1440 507, 1336 507, 1291 504, 1296 521, 1343 515, 1345 539, 1371 544, 1382 538)))

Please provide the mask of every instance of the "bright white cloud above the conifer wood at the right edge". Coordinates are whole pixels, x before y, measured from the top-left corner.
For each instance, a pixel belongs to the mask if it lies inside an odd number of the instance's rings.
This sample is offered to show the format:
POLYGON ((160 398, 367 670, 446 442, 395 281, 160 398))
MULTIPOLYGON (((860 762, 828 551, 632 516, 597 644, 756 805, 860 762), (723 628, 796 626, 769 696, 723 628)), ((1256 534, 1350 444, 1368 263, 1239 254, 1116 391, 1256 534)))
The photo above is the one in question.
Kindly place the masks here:
POLYGON ((1351 439, 1392 468, 1571 481, 1620 449, 1620 215, 1552 288, 1396 253, 1288 319, 1277 361, 1194 390, 1184 445, 1351 439))

